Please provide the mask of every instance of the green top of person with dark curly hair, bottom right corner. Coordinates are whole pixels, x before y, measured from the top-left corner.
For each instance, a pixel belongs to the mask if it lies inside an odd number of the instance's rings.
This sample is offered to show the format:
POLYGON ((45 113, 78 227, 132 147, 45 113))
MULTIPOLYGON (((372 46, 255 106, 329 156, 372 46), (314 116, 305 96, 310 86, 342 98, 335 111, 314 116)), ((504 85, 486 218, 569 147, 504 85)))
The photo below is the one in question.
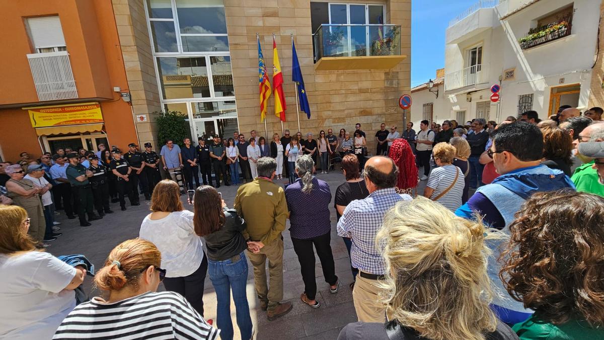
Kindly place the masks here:
POLYGON ((604 339, 603 329, 594 329, 586 321, 571 320, 554 325, 531 316, 527 321, 512 327, 520 340, 580 340, 604 339))

